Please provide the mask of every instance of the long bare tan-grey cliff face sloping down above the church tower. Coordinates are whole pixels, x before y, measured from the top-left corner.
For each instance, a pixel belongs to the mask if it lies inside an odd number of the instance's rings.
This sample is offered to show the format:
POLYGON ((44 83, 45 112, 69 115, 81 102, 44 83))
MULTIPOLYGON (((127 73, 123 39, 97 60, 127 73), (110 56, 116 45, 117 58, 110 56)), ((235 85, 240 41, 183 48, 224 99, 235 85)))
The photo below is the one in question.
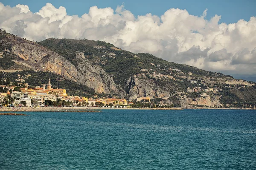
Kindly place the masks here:
POLYGON ((16 56, 12 59, 15 62, 12 68, 50 71, 93 88, 97 93, 125 96, 125 92, 115 84, 113 79, 99 66, 91 65, 81 52, 76 53, 74 60, 77 66, 75 66, 60 54, 19 37, 4 37, 1 44, 3 47, 6 45, 6 48, 11 47, 10 53, 16 56))

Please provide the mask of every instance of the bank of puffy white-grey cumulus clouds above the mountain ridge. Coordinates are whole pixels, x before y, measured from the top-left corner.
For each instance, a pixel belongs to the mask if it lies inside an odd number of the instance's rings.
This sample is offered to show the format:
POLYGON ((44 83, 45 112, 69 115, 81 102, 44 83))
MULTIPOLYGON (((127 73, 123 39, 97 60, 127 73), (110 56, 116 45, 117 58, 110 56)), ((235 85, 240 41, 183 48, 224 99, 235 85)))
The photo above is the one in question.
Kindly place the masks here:
POLYGON ((67 15, 66 8, 50 3, 36 13, 29 6, 0 3, 0 28, 29 40, 87 38, 111 42, 134 53, 147 52, 168 61, 233 74, 256 73, 256 17, 236 23, 219 23, 170 8, 160 17, 134 16, 124 5, 93 6, 81 17, 67 15))

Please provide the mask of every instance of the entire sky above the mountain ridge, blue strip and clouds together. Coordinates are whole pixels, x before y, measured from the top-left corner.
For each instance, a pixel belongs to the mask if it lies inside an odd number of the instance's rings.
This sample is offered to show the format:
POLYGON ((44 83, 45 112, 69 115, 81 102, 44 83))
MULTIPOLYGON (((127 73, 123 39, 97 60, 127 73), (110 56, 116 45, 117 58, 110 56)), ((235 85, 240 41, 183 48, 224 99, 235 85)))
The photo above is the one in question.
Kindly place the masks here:
POLYGON ((256 0, 2 0, 0 28, 28 40, 103 40, 210 71, 256 74, 256 0))

